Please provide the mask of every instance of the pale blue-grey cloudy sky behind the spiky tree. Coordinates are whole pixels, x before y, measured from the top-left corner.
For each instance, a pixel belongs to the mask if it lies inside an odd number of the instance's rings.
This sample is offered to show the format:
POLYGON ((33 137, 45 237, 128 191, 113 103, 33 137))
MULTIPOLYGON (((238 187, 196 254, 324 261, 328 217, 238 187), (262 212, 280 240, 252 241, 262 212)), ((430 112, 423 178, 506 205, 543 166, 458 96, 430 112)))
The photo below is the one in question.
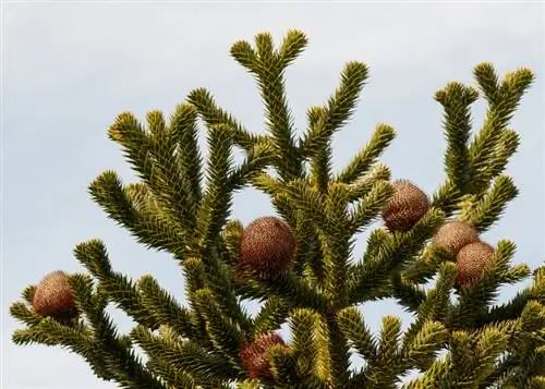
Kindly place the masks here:
MULTIPOLYGON (((335 137, 335 168, 350 160, 377 123, 389 123, 398 137, 380 161, 393 179, 410 179, 427 193, 445 179, 446 144, 435 90, 452 80, 473 84, 472 69, 483 61, 501 74, 520 66, 534 70, 537 80, 512 121, 522 144, 508 173, 521 194, 484 239, 516 242, 513 263, 543 263, 543 3, 11 1, 3 4, 1 22, 4 389, 116 387, 68 351, 11 342, 20 324, 9 316, 9 305, 51 270, 81 271, 72 256, 81 241, 102 239, 116 270, 135 279, 152 273, 183 301, 183 277, 174 260, 147 251, 109 220, 90 200, 87 185, 107 169, 133 181, 119 147, 106 135, 118 113, 130 110, 144 119, 147 111, 161 109, 169 114, 196 87, 208 88, 252 131, 264 131, 256 84, 229 56, 234 41, 252 41, 263 31, 276 42, 290 28, 308 35, 308 48, 287 72, 300 133, 306 108, 326 101, 343 64, 365 62, 371 77, 353 120, 335 137)), ((484 112, 485 105, 477 102, 475 130, 484 112)), ((242 222, 270 214, 265 195, 254 190, 237 194, 233 216, 242 222)), ((366 233, 359 236, 356 259, 366 233)), ((499 300, 520 288, 506 288, 499 300)), ((411 320, 392 302, 362 309, 375 331, 384 315, 400 316, 404 328, 411 320)), ((121 331, 130 330, 123 313, 112 315, 121 331)))

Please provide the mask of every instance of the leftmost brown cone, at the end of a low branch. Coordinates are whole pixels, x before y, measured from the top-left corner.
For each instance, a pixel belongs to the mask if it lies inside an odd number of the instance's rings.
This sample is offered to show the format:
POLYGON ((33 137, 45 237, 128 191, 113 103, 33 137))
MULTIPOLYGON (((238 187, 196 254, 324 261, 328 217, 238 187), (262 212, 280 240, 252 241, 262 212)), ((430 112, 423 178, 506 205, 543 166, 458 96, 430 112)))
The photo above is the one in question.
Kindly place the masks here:
POLYGON ((74 294, 69 276, 61 270, 52 271, 41 279, 34 291, 32 305, 44 317, 70 320, 77 315, 74 294))

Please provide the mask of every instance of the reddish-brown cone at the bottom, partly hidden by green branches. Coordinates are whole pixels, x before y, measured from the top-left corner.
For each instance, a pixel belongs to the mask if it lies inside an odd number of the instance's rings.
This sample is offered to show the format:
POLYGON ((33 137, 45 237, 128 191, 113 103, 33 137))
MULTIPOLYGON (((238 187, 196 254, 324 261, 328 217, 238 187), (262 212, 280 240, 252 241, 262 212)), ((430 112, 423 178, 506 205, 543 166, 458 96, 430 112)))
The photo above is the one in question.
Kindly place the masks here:
POLYGON ((287 350, 289 349, 278 333, 264 333, 241 350, 240 358, 250 378, 272 378, 267 353, 276 344, 280 344, 287 350))

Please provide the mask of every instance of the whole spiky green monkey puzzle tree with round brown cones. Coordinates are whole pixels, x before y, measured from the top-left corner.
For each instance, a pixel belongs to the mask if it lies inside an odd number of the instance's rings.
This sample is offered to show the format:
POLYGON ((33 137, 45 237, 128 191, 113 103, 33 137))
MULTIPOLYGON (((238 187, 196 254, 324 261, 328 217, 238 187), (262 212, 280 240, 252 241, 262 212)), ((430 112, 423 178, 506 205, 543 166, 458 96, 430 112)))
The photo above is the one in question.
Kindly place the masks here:
POLYGON ((168 120, 152 111, 144 125, 125 112, 108 131, 140 181, 123 184, 106 171, 89 194, 138 242, 179 262, 187 303, 152 276, 117 272, 94 239, 74 250, 86 273, 55 271, 11 306, 26 325, 13 341, 68 348, 121 388, 393 388, 410 369, 422 374, 408 389, 545 388, 545 267, 513 266, 513 242, 481 239, 518 194, 505 174, 520 142, 508 125, 533 73, 499 80, 481 63, 479 89, 452 82, 436 93, 447 179, 428 196, 411 181, 391 182, 378 162, 396 135, 388 124, 332 171, 331 136, 367 80, 361 62, 346 64, 338 89, 308 109, 307 130, 295 138, 283 74, 306 45, 290 31, 278 49, 266 33, 254 48, 231 48, 257 81, 266 134, 249 132, 204 88, 168 120), (481 96, 486 118, 473 133, 471 105, 481 96), (235 147, 245 156, 238 166, 235 147), (249 185, 268 194, 278 215, 243 227, 230 209, 233 192, 249 185), (354 234, 378 217, 385 228, 352 260, 354 234), (532 282, 495 303, 501 284, 523 279, 532 282), (384 317, 375 336, 358 304, 386 297, 415 320, 402 332, 398 317, 384 317), (242 305, 249 299, 263 303, 255 317, 242 305), (130 333, 118 333, 108 304, 137 323, 130 333), (283 323, 289 341, 276 332, 283 323), (360 369, 350 366, 352 352, 365 361, 360 369))

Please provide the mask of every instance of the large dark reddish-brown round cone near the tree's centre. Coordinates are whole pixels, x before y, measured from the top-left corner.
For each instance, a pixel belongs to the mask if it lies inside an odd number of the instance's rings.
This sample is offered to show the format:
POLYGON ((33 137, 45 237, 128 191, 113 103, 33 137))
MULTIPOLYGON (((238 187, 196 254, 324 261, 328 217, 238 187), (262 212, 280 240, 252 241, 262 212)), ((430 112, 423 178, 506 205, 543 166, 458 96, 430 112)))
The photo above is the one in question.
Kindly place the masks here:
POLYGON ((295 235, 287 222, 271 216, 257 218, 242 231, 235 268, 263 279, 283 273, 291 267, 295 247, 295 235))

